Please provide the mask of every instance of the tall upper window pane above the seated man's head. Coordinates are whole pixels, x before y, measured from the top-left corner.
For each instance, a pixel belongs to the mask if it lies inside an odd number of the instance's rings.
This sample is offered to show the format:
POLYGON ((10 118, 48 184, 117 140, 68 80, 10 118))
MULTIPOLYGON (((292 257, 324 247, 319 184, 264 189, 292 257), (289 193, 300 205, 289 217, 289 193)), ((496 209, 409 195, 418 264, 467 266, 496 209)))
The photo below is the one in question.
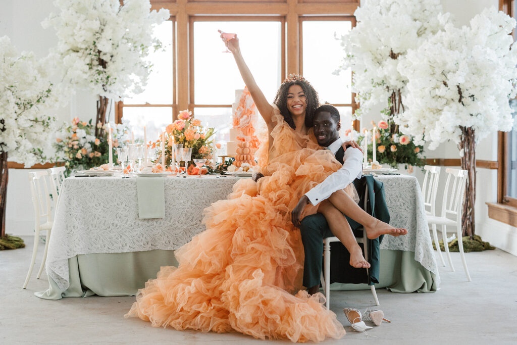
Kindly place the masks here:
POLYGON ((352 103, 351 71, 333 74, 345 55, 336 37, 352 29, 349 21, 304 21, 303 76, 314 86, 322 103, 352 103))

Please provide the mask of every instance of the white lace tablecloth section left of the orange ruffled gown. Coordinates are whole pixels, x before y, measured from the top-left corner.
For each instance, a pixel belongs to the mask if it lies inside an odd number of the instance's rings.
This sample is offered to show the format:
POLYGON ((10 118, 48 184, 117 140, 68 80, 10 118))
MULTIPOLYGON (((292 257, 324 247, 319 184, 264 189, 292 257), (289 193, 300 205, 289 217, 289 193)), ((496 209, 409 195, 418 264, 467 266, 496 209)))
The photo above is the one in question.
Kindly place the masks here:
POLYGON ((165 178, 165 217, 140 219, 136 178, 69 177, 50 235, 47 274, 70 286, 68 259, 78 254, 178 249, 205 230, 203 209, 232 191, 235 177, 165 178))

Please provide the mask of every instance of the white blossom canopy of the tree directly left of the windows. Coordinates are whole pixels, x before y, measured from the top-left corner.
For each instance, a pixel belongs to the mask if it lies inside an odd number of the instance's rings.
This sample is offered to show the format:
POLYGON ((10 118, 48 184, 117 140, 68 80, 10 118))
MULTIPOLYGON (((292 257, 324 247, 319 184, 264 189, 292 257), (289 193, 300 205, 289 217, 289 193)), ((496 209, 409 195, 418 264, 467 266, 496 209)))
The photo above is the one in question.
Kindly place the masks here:
POLYGON ((159 49, 153 26, 169 19, 169 10, 150 11, 149 0, 55 0, 53 26, 65 80, 101 97, 119 100, 147 84, 149 49, 159 49))

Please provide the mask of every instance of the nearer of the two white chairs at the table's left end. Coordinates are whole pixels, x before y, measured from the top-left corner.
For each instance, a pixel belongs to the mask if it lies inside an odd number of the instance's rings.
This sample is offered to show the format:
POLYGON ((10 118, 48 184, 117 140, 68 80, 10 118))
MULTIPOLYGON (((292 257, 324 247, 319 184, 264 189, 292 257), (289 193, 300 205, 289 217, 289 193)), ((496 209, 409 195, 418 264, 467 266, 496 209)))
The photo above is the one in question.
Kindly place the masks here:
POLYGON ((51 212, 51 200, 50 191, 47 185, 47 170, 41 170, 36 172, 28 173, 29 184, 31 186, 32 201, 34 205, 34 248, 31 258, 31 265, 29 265, 29 272, 23 283, 23 289, 27 287, 29 278, 31 278, 34 263, 36 262, 36 253, 38 252, 39 233, 42 230, 47 231, 47 239, 45 241, 45 251, 43 253, 43 259, 41 260, 41 266, 39 267, 38 276, 39 279, 43 267, 45 266, 45 260, 47 260, 47 251, 49 249, 50 230, 52 229, 52 212, 51 212))

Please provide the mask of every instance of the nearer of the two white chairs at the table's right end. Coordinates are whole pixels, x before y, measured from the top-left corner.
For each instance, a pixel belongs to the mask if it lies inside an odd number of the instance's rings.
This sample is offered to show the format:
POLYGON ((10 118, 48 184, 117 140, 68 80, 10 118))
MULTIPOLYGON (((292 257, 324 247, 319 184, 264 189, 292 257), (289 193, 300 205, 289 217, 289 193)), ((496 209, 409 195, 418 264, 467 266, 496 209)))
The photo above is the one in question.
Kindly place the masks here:
POLYGON ((456 227, 458 236, 458 247, 460 249, 461 261, 463 262, 463 268, 467 275, 468 281, 470 274, 468 273, 467 262, 465 260, 465 252, 463 251, 462 241, 462 229, 461 229, 461 217, 463 212, 463 194, 465 192, 465 184, 467 180, 467 171, 461 169, 450 169, 446 170, 448 176, 445 183, 444 198, 442 202, 442 213, 440 216, 428 216, 427 221, 433 226, 442 226, 442 237, 444 239, 444 248, 447 253, 447 259, 451 265, 452 272, 454 272, 454 266, 449 252, 449 246, 447 245, 447 226, 456 227), (452 187, 451 186, 451 179, 452 187), (451 219, 453 218, 453 219, 451 219))

